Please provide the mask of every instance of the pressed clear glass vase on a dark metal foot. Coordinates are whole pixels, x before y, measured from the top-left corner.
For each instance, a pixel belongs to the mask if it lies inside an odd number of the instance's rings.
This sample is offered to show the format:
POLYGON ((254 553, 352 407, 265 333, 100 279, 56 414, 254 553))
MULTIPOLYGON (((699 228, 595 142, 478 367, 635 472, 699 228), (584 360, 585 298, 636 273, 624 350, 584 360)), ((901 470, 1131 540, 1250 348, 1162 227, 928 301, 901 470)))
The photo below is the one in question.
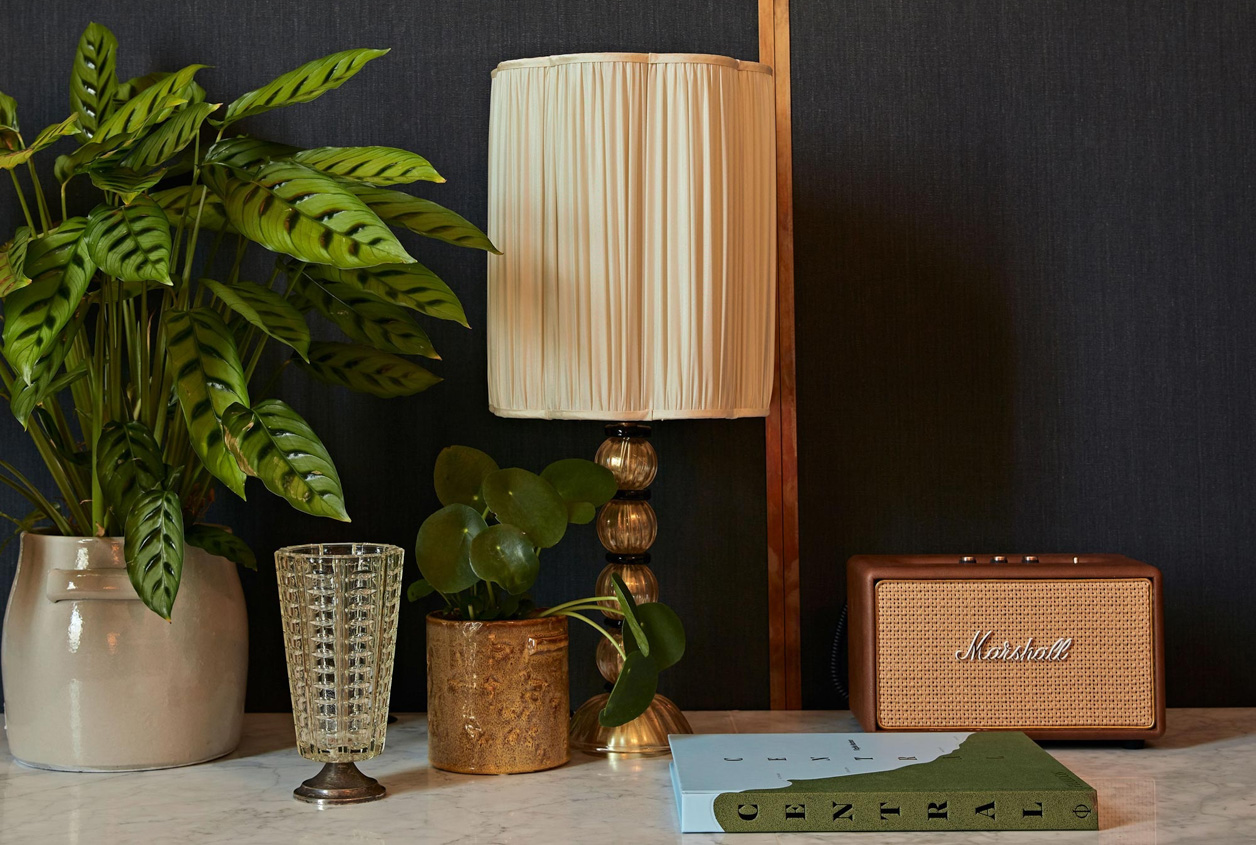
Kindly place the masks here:
POLYGON ((294 795, 358 804, 384 787, 354 765, 384 748, 404 551, 369 542, 275 552, 296 748, 324 763, 294 795))

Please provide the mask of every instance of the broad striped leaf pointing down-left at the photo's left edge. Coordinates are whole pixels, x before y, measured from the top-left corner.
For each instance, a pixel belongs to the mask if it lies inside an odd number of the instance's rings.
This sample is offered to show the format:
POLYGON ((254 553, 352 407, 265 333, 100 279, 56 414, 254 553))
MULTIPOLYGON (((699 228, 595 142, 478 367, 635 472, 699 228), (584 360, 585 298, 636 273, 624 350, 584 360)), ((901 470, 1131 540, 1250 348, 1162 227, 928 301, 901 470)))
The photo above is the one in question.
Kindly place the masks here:
POLYGON ((4 357, 26 384, 35 365, 69 323, 95 272, 88 255, 87 220, 70 217, 26 245, 23 271, 30 284, 5 300, 4 357))

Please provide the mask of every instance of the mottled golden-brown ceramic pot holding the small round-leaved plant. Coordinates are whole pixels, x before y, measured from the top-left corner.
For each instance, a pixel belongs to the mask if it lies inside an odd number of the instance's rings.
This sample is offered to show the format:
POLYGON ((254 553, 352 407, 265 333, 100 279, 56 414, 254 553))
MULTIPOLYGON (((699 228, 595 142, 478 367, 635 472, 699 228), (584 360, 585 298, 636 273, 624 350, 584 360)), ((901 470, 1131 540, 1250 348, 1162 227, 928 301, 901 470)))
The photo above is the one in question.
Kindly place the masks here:
POLYGON ((566 618, 462 622, 427 615, 427 758, 511 775, 561 766, 570 703, 566 618))

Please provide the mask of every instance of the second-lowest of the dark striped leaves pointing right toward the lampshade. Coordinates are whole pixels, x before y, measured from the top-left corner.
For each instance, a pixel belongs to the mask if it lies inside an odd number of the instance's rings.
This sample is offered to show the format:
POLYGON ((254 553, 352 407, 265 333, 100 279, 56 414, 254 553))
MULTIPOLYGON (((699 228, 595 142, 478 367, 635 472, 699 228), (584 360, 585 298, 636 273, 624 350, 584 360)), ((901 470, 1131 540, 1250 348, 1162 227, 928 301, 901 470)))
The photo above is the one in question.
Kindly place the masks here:
POLYGON ((301 276, 296 293, 353 340, 382 352, 440 358, 427 333, 401 305, 386 303, 360 288, 301 276))

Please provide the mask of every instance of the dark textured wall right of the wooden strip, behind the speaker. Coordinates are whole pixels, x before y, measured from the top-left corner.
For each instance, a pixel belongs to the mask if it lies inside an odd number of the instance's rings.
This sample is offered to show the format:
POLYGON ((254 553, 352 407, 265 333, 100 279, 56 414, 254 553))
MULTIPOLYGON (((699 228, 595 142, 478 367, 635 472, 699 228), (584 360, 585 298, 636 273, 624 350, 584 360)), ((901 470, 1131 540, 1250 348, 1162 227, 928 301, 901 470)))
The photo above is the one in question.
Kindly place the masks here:
POLYGON ((909 551, 1154 564, 1169 704, 1256 704, 1256 5, 791 8, 806 706, 909 551))

